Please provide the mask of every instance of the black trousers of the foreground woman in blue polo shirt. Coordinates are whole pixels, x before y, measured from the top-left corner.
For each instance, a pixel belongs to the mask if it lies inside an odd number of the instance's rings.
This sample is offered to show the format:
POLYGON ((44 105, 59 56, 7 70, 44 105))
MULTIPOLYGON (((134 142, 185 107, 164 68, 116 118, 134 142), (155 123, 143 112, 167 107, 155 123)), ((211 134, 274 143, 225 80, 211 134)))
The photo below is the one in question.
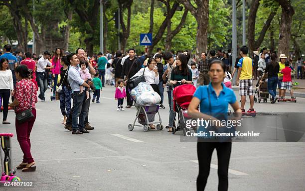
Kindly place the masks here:
POLYGON ((228 190, 228 169, 231 155, 231 142, 213 143, 198 142, 197 156, 199 163, 199 174, 197 177, 197 191, 204 191, 207 178, 210 174, 211 158, 214 149, 218 158, 218 191, 228 190))

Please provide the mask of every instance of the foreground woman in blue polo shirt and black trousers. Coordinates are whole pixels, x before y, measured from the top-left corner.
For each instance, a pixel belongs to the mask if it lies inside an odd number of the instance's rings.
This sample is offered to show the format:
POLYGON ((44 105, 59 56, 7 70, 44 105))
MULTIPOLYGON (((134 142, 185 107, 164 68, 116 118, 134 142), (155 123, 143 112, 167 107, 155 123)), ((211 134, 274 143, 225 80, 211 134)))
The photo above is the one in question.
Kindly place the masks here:
MULTIPOLYGON (((200 119, 203 118, 205 120, 219 119, 219 116, 217 115, 225 115, 225 113, 228 111, 228 104, 231 104, 235 112, 241 112, 234 92, 225 87, 222 83, 223 79, 226 77, 225 72, 226 66, 221 60, 214 60, 210 63, 209 76, 211 83, 208 86, 200 86, 196 90, 188 107, 188 114, 191 117, 200 119), (200 112, 197 110, 199 105, 200 112)), ((218 191, 228 190, 228 169, 231 155, 231 145, 231 141, 215 142, 215 139, 211 137, 198 138, 197 156, 199 163, 199 174, 196 182, 197 191, 203 191, 205 188, 207 178, 210 173, 212 153, 215 148, 218 156, 218 191), (204 139, 204 141, 200 142, 200 139, 204 139)))

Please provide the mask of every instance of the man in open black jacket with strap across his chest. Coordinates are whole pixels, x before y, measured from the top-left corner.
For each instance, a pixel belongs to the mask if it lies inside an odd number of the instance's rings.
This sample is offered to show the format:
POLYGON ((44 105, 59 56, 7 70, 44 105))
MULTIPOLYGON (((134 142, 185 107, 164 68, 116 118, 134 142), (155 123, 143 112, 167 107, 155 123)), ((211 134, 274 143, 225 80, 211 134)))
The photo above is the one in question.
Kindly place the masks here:
MULTIPOLYGON (((127 58, 123 64, 121 79, 125 79, 125 82, 133 77, 137 72, 142 68, 142 65, 135 57, 136 51, 135 49, 131 48, 128 50, 129 58, 127 58)), ((126 91, 127 95, 127 106, 126 108, 130 108, 133 105, 133 100, 129 91, 126 91)))

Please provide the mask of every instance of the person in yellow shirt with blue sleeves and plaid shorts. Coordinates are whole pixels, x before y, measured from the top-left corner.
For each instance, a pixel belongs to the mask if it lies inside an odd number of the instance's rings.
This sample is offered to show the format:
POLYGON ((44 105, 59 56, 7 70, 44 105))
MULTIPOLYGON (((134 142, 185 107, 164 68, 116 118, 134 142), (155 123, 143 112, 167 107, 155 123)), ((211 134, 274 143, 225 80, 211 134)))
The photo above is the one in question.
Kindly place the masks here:
POLYGON ((247 111, 248 113, 255 113, 253 108, 254 106, 254 97, 252 91, 252 75, 253 75, 253 61, 251 58, 247 56, 248 47, 243 46, 240 48, 240 55, 242 58, 238 61, 237 66, 237 86, 239 86, 239 95, 241 95, 241 110, 245 112, 245 103, 246 103, 246 95, 249 95, 250 98, 250 108, 247 111))

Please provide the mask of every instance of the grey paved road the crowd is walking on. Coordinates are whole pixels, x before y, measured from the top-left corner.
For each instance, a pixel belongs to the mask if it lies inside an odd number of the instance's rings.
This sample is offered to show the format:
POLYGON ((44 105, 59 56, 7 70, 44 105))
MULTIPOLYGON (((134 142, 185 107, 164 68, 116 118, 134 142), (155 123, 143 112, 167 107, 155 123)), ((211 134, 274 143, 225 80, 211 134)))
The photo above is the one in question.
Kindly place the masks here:
MULTIPOLYGON (((47 97, 50 92, 48 90, 47 97)), ((128 131, 136 109, 116 111, 114 88, 106 87, 101 103, 92 103, 89 120, 95 130, 72 135, 63 128, 59 101, 37 103, 37 119, 31 134, 36 172, 17 171, 23 181, 34 182, 24 191, 195 191, 198 173, 196 143, 180 142, 179 135, 162 131, 128 131), (125 136, 122 138, 122 135, 125 136)), ((165 98, 166 93, 164 94, 165 98)), ((238 98, 239 99, 239 98, 238 98)), ((168 123, 168 104, 160 109, 168 123)), ((248 108, 249 102, 246 103, 248 108)), ((305 99, 297 103, 257 103, 261 112, 305 111, 305 99)), ((1 114, 2 117, 2 114, 1 114)), ((14 113, 8 114, 13 121, 14 113)), ((13 132, 14 123, 0 125, 13 132)), ((22 152, 12 138, 14 165, 22 152)), ((304 191, 304 143, 233 143, 230 191, 304 191)), ((207 191, 217 190, 217 157, 212 158, 207 191)), ((1 188, 3 191, 18 189, 1 188)), ((19 189, 20 190, 20 189, 19 189)))

